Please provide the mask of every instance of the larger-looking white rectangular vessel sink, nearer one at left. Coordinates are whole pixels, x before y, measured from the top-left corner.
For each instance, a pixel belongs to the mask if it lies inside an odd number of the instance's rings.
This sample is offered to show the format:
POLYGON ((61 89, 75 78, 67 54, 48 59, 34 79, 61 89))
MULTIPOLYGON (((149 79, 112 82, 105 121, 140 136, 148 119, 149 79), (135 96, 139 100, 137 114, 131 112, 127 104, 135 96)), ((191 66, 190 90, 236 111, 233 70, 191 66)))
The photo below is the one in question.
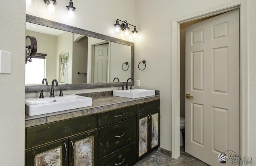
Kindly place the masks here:
POLYGON ((54 98, 28 98, 25 99, 25 111, 28 116, 41 115, 88 107, 92 105, 92 98, 70 94, 65 96, 55 96, 54 98))

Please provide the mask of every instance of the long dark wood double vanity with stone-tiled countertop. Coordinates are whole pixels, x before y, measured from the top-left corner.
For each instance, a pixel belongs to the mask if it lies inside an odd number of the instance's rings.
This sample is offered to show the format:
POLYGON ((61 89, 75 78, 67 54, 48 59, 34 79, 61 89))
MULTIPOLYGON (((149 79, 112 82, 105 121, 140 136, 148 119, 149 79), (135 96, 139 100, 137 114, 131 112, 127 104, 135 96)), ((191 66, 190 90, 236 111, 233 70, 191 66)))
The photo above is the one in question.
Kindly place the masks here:
MULTIPOLYGON (((119 93, 130 97, 118 97, 118 91, 78 94, 77 100, 92 99, 91 106, 26 115, 26 166, 132 166, 158 148, 159 91, 150 95, 145 94, 150 90, 136 89, 119 93)), ((70 96, 76 98, 63 97, 70 96)), ((26 100, 26 107, 32 100, 26 100)))

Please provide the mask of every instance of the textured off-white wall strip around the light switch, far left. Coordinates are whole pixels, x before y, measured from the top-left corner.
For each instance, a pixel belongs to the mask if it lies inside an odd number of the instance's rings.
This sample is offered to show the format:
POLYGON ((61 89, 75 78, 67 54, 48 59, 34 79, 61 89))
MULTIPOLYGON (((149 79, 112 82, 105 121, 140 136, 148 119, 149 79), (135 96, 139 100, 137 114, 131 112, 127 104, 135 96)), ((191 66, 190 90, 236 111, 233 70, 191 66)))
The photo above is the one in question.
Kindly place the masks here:
POLYGON ((25 1, 0 5, 0 50, 12 53, 11 74, 0 74, 0 165, 24 165, 25 1))

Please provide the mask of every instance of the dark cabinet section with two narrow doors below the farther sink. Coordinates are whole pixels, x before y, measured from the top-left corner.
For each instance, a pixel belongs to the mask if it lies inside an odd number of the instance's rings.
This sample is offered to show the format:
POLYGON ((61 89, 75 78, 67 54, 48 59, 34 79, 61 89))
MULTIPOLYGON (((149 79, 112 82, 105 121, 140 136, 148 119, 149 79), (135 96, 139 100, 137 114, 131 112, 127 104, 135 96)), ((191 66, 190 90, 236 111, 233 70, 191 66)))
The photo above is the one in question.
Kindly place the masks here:
POLYGON ((137 105, 137 114, 138 162, 160 145, 159 100, 137 105))

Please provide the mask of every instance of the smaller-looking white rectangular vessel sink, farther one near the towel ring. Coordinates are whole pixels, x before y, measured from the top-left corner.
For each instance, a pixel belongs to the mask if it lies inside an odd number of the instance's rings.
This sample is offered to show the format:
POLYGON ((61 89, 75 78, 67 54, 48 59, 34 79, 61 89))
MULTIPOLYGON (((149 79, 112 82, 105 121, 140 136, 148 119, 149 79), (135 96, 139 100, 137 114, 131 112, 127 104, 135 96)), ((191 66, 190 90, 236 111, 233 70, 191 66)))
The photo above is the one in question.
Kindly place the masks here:
POLYGON ((146 96, 154 96, 155 90, 147 89, 132 89, 132 90, 113 90, 113 96, 119 96, 124 98, 142 98, 146 96))

